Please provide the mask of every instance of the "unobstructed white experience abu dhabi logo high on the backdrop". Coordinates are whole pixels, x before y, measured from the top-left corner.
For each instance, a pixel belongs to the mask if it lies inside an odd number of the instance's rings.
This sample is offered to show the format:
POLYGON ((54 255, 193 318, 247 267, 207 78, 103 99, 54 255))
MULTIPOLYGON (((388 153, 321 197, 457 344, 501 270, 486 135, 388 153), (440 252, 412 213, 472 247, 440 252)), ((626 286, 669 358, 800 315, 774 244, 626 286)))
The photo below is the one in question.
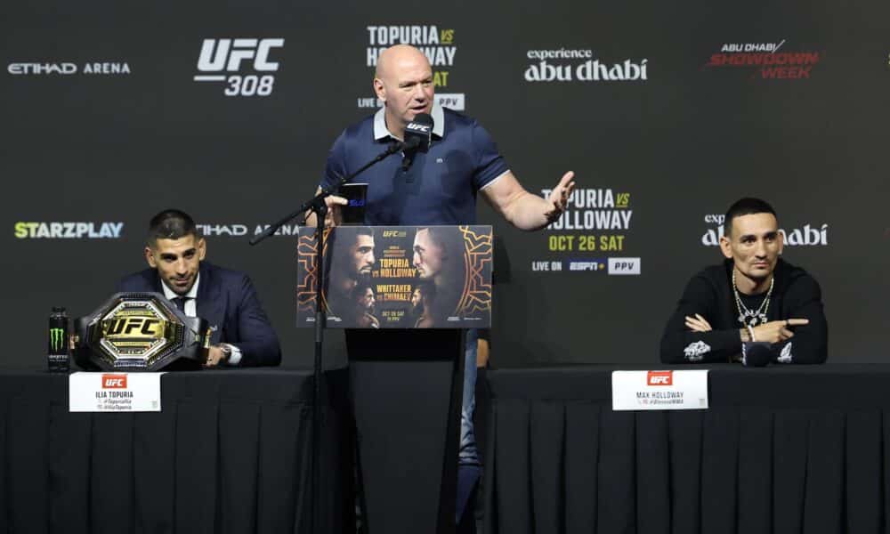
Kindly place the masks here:
POLYGON ((645 82, 649 79, 649 60, 606 61, 593 50, 558 48, 529 50, 525 69, 527 82, 645 82))

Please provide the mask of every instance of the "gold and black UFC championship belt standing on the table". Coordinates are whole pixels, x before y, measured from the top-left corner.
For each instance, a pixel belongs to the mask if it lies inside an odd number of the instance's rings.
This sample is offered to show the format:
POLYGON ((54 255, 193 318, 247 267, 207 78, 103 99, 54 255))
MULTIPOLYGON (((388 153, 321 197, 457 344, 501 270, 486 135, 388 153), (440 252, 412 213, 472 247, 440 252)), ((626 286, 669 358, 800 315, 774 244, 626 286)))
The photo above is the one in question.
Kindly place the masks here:
POLYGON ((188 317, 159 293, 116 293, 74 322, 74 360, 102 371, 200 368, 210 347, 208 323, 188 317))

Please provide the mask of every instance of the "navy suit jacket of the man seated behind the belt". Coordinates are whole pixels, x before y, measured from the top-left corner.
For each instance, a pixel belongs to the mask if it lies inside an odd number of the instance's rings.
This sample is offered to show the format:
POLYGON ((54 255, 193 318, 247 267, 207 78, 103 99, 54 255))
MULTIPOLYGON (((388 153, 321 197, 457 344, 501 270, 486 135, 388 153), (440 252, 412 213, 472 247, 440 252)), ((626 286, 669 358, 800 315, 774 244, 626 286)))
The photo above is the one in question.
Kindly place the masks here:
MULTIPOLYGON (((198 316, 213 330, 212 344, 227 343, 241 350, 239 366, 279 365, 278 336, 263 312, 247 275, 201 262, 198 316)), ((122 279, 118 291, 154 291, 164 294, 158 271, 146 269, 122 279)))

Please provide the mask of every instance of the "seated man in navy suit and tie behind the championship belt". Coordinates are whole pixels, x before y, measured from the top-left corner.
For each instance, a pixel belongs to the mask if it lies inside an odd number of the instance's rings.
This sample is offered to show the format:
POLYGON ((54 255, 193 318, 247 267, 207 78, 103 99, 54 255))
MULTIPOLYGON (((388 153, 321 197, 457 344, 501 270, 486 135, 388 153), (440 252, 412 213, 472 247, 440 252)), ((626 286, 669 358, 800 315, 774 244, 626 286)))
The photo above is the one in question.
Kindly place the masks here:
POLYGON ((213 331, 206 367, 279 365, 278 336, 247 275, 205 262, 206 241, 188 214, 168 209, 149 223, 145 260, 150 269, 122 279, 118 291, 164 294, 213 331))

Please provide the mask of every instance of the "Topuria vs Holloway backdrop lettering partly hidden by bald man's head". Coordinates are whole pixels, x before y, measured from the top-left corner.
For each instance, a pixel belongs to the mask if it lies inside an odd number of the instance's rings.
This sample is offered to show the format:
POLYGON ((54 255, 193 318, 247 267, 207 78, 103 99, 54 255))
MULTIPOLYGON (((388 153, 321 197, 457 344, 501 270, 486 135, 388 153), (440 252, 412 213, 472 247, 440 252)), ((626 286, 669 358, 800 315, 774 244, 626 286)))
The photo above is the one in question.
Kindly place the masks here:
MULTIPOLYGON (((411 44, 424 53, 433 67, 433 86, 435 101, 444 108, 464 111, 466 108, 465 93, 443 93, 450 91, 451 70, 455 65, 457 44, 454 28, 440 28, 436 25, 425 26, 368 26, 365 28, 368 46, 365 48, 365 65, 376 69, 380 53, 394 44, 411 44)), ((369 88, 368 88, 369 89, 369 88)), ((379 108, 382 101, 376 96, 360 96, 356 99, 358 107, 379 108)))

